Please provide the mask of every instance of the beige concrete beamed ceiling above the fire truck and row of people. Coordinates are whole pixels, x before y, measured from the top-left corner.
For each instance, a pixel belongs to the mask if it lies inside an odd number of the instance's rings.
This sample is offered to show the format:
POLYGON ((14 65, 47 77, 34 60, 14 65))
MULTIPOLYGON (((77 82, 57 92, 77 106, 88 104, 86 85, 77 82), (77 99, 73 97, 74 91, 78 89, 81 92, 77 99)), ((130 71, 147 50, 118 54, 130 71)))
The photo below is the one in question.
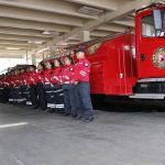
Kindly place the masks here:
MULTIPOLYGON (((155 0, 156 1, 156 0, 155 0)), ((100 37, 134 28, 135 8, 154 0, 0 0, 0 56, 74 45, 80 31, 100 37)))

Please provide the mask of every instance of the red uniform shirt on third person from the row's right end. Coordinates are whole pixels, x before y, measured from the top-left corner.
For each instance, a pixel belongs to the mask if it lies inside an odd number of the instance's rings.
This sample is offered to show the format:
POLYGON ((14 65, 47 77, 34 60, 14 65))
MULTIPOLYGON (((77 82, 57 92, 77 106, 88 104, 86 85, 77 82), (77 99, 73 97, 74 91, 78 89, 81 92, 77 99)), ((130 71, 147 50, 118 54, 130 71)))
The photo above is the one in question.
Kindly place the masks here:
POLYGON ((53 77, 51 78, 51 82, 59 85, 61 75, 62 75, 62 67, 56 67, 53 70, 53 77))

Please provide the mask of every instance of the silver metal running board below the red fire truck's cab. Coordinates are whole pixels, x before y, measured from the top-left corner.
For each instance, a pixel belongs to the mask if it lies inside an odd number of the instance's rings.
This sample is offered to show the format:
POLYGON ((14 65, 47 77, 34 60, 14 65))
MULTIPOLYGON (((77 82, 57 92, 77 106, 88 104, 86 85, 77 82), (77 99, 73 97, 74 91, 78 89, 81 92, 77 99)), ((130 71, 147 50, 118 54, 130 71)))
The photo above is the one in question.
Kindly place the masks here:
POLYGON ((135 94, 135 95, 129 96, 129 98, 132 98, 132 99, 164 99, 165 94, 135 94))

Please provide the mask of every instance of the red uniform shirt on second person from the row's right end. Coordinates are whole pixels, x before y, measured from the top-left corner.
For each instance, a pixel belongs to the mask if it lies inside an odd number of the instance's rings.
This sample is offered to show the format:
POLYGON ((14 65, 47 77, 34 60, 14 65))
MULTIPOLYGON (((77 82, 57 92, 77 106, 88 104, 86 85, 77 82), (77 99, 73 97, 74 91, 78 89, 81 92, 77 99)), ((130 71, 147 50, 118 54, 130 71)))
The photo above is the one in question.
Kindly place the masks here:
POLYGON ((74 66, 69 65, 63 68, 61 82, 62 84, 73 84, 75 80, 74 66))

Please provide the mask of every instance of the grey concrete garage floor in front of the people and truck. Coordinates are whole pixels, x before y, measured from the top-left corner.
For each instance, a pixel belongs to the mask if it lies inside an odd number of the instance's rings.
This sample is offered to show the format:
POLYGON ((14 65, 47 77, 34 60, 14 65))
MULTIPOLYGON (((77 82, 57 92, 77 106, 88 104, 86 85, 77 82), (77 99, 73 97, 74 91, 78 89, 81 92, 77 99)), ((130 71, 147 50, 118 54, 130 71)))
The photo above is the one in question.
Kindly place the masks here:
POLYGON ((0 105, 0 165, 165 165, 165 113, 96 111, 82 123, 0 105))

